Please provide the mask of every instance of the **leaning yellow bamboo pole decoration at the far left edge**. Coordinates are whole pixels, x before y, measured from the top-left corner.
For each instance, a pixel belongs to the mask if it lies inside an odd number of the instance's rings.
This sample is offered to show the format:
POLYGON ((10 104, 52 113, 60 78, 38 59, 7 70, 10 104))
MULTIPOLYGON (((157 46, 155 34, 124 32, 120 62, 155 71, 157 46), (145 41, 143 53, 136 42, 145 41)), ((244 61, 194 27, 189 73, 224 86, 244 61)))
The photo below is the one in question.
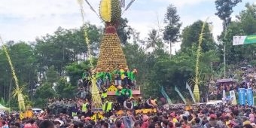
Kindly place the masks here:
POLYGON ((5 56, 7 57, 8 63, 10 65, 10 67, 11 67, 11 73, 13 75, 13 78, 14 78, 14 81, 15 81, 15 85, 16 85, 16 89, 14 90, 13 95, 14 95, 14 97, 17 97, 17 99, 18 99, 20 111, 24 111, 25 110, 25 102, 24 102, 24 98, 23 98, 24 97, 23 96, 23 89, 20 88, 20 86, 19 86, 17 75, 15 73, 14 66, 13 66, 13 64, 11 62, 11 57, 10 57, 10 55, 8 53, 7 47, 5 47, 4 41, 2 41, 2 37, 1 36, 0 36, 0 41, 2 43, 2 47, 3 47, 4 51, 5 51, 5 56))

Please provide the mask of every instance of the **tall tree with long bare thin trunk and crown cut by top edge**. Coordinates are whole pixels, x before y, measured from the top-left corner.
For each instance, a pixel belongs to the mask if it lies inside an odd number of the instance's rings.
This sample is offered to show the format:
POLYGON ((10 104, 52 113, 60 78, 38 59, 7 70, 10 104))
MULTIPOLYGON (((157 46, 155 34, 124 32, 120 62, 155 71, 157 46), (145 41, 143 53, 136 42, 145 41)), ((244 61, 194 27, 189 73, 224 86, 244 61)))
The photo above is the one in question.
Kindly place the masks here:
POLYGON ((224 77, 226 77, 226 29, 231 22, 231 14, 233 13, 233 7, 235 7, 242 0, 216 0, 215 6, 217 9, 216 15, 223 20, 224 38, 222 38, 224 44, 224 77))

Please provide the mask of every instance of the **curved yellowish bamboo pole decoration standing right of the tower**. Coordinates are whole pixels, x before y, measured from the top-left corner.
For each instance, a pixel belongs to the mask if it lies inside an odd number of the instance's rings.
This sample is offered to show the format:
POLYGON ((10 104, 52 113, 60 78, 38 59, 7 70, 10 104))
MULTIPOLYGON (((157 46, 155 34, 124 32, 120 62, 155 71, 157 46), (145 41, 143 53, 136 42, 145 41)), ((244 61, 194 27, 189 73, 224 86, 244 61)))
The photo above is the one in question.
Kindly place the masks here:
POLYGON ((199 41, 198 41, 198 47, 197 47, 197 61, 196 61, 196 77, 195 77, 195 87, 194 87, 194 96, 195 99, 197 100, 197 102, 200 102, 200 90, 199 90, 199 61, 200 61, 200 56, 201 56, 201 52, 202 52, 202 47, 201 44, 203 42, 203 32, 204 29, 206 27, 206 22, 209 18, 206 19, 206 21, 203 23, 201 32, 200 32, 200 36, 199 36, 199 41))

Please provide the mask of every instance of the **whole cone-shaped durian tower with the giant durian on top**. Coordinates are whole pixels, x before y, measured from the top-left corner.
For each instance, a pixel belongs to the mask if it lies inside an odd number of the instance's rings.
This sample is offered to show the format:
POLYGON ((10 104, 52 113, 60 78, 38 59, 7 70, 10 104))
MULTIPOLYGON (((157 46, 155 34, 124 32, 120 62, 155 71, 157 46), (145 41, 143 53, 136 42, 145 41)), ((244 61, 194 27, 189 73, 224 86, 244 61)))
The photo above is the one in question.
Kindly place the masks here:
POLYGON ((126 67, 126 59, 117 35, 117 27, 121 17, 119 0, 102 0, 99 14, 105 22, 105 33, 102 38, 97 68, 113 71, 117 66, 126 67))

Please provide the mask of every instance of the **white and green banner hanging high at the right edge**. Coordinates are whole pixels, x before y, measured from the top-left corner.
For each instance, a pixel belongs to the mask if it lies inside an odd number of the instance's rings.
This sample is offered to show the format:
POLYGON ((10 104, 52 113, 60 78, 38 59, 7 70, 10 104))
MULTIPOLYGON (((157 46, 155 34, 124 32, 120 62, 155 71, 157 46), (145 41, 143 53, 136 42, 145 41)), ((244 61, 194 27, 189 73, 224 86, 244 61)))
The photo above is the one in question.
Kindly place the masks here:
POLYGON ((233 36, 233 45, 254 44, 256 43, 256 35, 233 36))

